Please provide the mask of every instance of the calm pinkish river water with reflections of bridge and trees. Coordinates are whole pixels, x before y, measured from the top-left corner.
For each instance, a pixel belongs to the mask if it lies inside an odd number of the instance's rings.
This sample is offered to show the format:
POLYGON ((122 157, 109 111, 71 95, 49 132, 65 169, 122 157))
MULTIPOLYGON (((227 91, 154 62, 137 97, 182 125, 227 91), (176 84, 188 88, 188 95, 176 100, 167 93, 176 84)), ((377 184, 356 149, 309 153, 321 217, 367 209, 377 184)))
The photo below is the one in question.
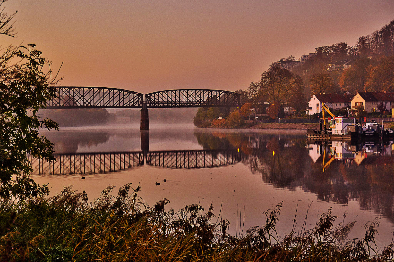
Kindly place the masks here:
MULTIPOLYGON (((87 192, 89 201, 110 185, 141 185, 149 205, 162 198, 178 210, 213 203, 230 221, 230 234, 265 223, 264 212, 283 201, 278 232, 289 232, 307 215, 312 228, 332 207, 337 223, 363 224, 380 216, 378 243, 390 244, 394 222, 394 147, 391 141, 348 144, 307 141, 305 131, 200 129, 136 125, 62 128, 43 131, 55 143, 56 163, 32 159, 32 178, 49 183, 50 195, 63 186, 87 192), (84 176, 85 179, 81 179, 84 176), (166 182, 164 182, 166 179, 166 182), (156 185, 156 182, 160 185, 156 185), (296 212, 297 210, 297 212, 296 212)), ((296 230, 297 231, 297 230, 296 230)))

